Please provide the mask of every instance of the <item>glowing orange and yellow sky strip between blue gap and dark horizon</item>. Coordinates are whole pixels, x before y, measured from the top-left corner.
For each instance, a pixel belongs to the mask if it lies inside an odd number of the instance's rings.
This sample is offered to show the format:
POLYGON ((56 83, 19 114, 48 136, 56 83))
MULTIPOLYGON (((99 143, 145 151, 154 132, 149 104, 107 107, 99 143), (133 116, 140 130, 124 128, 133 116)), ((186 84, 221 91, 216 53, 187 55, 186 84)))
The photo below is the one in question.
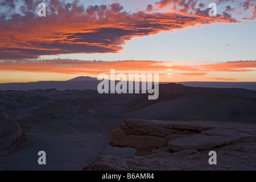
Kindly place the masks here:
POLYGON ((160 82, 256 81, 256 61, 177 65, 160 61, 23 60, 1 61, 0 82, 69 80, 101 73, 159 73, 160 82), (34 75, 34 76, 33 76, 34 75), (220 76, 221 75, 221 76, 220 76))

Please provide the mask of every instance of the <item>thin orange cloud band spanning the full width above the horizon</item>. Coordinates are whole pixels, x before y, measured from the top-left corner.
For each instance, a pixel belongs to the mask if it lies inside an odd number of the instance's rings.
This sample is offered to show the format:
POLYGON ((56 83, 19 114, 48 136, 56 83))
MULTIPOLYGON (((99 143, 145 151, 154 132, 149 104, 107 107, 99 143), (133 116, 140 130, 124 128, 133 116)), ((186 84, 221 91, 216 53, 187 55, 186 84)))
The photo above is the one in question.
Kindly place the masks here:
POLYGON ((19 60, 0 61, 0 71, 43 72, 61 74, 93 74, 116 71, 152 71, 163 74, 171 71, 191 72, 180 73, 187 76, 204 76, 208 72, 249 72, 255 71, 256 61, 230 61, 204 65, 174 65, 164 61, 81 61, 81 60, 19 60), (171 67, 170 67, 171 65, 171 67), (171 71, 170 71, 171 70, 171 71), (195 73, 193 73, 195 72, 195 73))

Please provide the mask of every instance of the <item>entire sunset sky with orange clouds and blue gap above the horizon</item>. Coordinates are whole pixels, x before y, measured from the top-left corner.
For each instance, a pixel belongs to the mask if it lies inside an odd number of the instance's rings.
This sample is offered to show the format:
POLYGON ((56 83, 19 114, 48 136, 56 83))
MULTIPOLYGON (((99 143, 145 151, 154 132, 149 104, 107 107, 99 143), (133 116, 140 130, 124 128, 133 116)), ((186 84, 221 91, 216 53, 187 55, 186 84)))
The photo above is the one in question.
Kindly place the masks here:
POLYGON ((164 82, 256 81, 255 19, 256 0, 0 0, 0 83, 110 69, 164 82))

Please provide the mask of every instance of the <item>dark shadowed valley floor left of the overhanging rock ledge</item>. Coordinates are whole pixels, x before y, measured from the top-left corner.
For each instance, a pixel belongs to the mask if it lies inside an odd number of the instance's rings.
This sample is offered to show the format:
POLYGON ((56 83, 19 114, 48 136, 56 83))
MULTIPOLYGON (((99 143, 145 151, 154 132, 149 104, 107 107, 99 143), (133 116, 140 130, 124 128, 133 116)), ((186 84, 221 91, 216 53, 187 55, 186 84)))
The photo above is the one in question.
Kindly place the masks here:
POLYGON ((0 115, 0 168, 81 170, 100 154, 131 154, 131 149, 109 147, 108 135, 120 123, 112 113, 134 97, 104 96, 94 90, 0 91, 5 110, 0 115), (47 154, 46 166, 38 165, 42 150, 47 154))

